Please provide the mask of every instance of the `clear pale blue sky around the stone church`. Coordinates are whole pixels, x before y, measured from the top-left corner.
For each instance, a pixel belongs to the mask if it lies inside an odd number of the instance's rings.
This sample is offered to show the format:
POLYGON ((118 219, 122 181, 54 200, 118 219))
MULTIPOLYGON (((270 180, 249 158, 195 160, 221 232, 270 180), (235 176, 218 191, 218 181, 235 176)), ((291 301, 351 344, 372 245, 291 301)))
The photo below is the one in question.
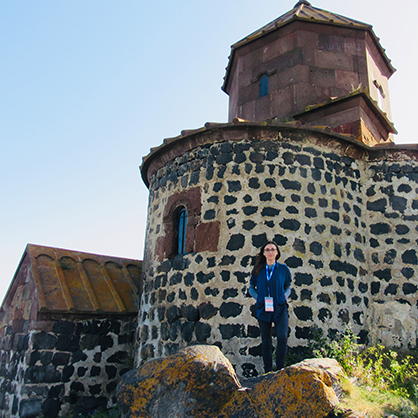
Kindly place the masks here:
MULTIPOLYGON (((0 301, 28 243, 142 259, 142 157, 227 121, 230 45, 296 2, 0 2, 0 301)), ((395 142, 418 143, 418 2, 311 3, 373 25, 395 142)))

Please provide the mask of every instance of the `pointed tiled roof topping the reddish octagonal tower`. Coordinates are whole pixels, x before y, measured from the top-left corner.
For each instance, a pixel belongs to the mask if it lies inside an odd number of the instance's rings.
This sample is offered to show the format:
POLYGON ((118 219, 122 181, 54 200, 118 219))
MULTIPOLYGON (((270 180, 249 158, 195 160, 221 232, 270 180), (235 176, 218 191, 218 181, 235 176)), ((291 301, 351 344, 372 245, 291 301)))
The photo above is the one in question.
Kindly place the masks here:
POLYGON ((360 22, 358 20, 350 19, 345 16, 341 16, 339 14, 332 13, 327 10, 318 9, 316 7, 313 7, 311 3, 309 3, 309 1, 300 0, 295 4, 293 9, 289 10, 284 15, 278 17, 277 19, 273 20, 272 22, 256 30, 255 32, 251 33, 250 35, 246 36, 245 38, 241 39, 240 41, 236 42, 231 46, 231 55, 229 57, 228 66, 226 67, 226 74, 224 77, 224 84, 222 86, 222 90, 226 92, 229 71, 232 66, 236 49, 296 20, 368 31, 371 34, 372 39, 375 42, 378 50, 382 54, 382 57, 386 62, 388 68, 391 70, 392 73, 396 71, 391 64, 390 59, 386 56, 385 49, 380 45, 379 38, 373 32, 372 25, 360 22))

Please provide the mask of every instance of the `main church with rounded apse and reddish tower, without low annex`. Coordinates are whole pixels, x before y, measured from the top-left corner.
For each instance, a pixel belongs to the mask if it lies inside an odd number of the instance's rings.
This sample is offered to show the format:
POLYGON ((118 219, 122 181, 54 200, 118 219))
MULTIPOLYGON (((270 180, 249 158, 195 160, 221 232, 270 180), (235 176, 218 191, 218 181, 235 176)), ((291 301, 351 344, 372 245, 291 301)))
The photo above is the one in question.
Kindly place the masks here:
POLYGON ((164 140, 141 166, 138 364, 204 343, 260 373, 248 283, 267 240, 293 276, 291 349, 347 325, 415 345, 418 151, 391 140, 393 71, 371 26, 307 1, 233 45, 230 121, 164 140))

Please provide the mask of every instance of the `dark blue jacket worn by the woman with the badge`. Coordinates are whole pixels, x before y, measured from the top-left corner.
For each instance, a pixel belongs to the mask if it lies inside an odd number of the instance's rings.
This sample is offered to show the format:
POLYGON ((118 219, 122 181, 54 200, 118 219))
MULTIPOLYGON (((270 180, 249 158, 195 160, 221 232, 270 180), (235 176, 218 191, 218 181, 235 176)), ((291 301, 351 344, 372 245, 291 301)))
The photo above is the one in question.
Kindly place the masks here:
POLYGON ((260 270, 258 276, 251 275, 249 293, 254 297, 257 308, 257 318, 266 322, 274 322, 279 319, 283 307, 287 305, 286 297, 290 294, 290 283, 292 277, 289 267, 276 261, 273 275, 270 281, 267 280, 266 268, 260 270), (273 297, 274 312, 265 311, 264 298, 273 297))

